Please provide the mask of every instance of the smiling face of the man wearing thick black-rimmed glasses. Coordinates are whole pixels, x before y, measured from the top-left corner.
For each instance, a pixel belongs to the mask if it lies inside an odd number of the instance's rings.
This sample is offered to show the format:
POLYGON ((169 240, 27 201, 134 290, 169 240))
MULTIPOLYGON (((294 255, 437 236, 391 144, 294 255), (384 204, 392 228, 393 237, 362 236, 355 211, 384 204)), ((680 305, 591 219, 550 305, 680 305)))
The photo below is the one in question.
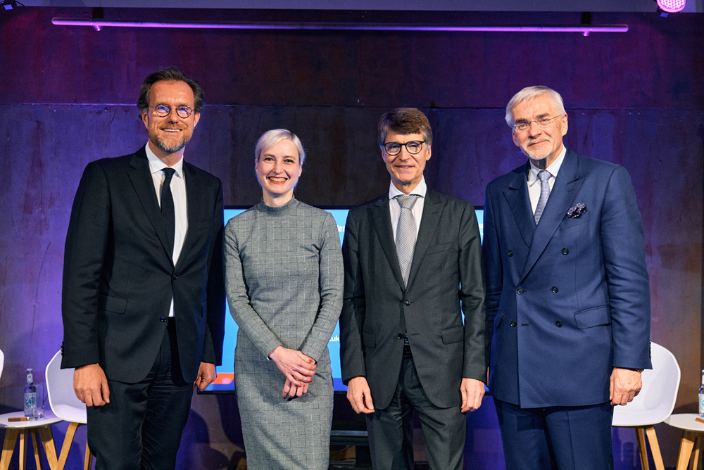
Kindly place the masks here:
MULTIPOLYGON (((423 141, 421 134, 398 134, 397 132, 389 131, 384 139, 384 144, 389 142, 398 142, 398 144, 406 144, 410 141, 423 141)), ((430 146, 423 144, 419 153, 412 155, 408 153, 406 146, 401 147, 401 152, 398 155, 389 155, 382 148, 382 159, 386 163, 386 171, 391 175, 391 182, 394 183, 396 189, 404 194, 413 191, 415 186, 420 183, 423 178, 423 170, 425 170, 425 162, 430 160, 430 146)))

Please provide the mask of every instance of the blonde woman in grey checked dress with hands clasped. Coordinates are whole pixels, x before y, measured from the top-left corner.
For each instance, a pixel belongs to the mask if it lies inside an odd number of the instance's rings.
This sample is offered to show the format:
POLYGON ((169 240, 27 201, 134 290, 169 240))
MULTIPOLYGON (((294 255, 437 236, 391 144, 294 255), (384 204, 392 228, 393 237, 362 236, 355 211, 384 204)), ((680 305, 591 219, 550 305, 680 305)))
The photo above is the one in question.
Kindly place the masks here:
POLYGON ((296 201, 301 141, 259 139, 260 203, 225 227, 225 287, 239 325, 235 390, 249 469, 327 469, 332 375, 327 342, 342 308, 337 224, 296 201))

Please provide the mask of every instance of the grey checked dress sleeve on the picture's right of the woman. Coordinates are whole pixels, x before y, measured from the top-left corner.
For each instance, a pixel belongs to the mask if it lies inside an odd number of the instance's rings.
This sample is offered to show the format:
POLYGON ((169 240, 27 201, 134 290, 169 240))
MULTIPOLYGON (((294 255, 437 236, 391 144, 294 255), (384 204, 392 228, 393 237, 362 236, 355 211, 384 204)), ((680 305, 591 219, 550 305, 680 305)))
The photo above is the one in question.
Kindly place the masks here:
POLYGON ((306 336, 301 352, 316 362, 327 348, 342 309, 342 251, 340 236, 332 214, 325 216, 320 231, 320 306, 313 328, 306 336))

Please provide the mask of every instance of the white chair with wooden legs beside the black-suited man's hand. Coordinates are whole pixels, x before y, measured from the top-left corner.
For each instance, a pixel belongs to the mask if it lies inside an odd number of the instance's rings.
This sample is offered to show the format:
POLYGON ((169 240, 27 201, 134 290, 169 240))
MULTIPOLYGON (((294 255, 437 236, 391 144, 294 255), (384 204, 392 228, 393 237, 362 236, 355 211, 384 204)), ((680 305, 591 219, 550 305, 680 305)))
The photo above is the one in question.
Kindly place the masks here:
MULTIPOLYGON (((46 393, 49 395, 49 406, 57 417, 69 422, 56 470, 63 470, 66 459, 68 459, 68 450, 73 443, 78 426, 87 423, 86 405, 78 399, 73 391, 74 370, 61 369, 61 351, 57 352, 46 365, 46 393)), ((90 470, 92 462, 93 455, 86 442, 84 470, 90 470)))

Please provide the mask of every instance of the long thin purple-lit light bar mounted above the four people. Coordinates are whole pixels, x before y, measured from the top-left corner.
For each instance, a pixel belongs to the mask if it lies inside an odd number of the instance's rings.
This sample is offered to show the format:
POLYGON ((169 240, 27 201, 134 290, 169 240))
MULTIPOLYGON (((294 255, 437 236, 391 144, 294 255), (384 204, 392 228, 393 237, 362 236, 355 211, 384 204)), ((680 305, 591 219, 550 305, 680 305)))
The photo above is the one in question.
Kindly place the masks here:
POLYGON ((54 18, 54 25, 103 27, 175 27, 203 30, 336 30, 336 31, 432 31, 432 32, 627 32, 628 25, 579 26, 431 26, 391 23, 154 23, 147 21, 73 20, 54 18))

